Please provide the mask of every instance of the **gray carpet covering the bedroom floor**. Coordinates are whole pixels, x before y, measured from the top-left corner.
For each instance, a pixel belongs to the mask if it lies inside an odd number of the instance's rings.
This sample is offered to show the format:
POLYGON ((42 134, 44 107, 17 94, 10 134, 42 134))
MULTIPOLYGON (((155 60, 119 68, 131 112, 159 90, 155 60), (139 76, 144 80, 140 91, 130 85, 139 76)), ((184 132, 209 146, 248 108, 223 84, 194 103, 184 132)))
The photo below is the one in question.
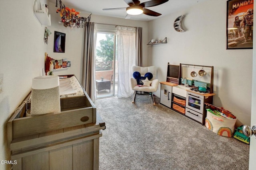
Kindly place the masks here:
POLYGON ((160 104, 154 97, 95 102, 106 123, 100 138, 100 170, 246 170, 249 145, 218 136, 160 104))

